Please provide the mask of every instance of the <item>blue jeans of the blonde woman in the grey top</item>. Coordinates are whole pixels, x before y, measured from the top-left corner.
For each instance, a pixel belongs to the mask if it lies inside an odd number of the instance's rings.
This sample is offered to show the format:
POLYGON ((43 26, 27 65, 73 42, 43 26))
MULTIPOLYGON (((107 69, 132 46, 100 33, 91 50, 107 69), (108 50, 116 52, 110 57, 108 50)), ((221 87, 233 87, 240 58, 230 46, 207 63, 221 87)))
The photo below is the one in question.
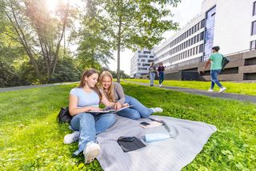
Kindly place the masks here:
POLYGON ((126 103, 134 106, 121 110, 120 112, 117 113, 119 116, 128 117, 130 119, 137 120, 141 117, 144 117, 144 118, 149 117, 150 114, 153 113, 152 109, 145 107, 145 105, 142 105, 142 103, 134 97, 130 97, 126 95, 126 103))

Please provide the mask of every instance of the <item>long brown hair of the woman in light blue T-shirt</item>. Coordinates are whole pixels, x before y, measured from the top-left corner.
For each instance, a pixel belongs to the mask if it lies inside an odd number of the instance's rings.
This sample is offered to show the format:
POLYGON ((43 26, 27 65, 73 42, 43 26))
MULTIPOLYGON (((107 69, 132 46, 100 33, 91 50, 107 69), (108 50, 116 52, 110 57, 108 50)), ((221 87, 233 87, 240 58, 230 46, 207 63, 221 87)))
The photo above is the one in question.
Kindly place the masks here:
MULTIPOLYGON (((80 81, 80 84, 78 85, 78 87, 82 88, 86 85, 86 77, 89 78, 92 74, 98 74, 97 70, 94 69, 88 69, 86 70, 83 74, 82 74, 82 78, 80 81)), ((98 74, 99 76, 99 74, 98 74)), ((102 100, 102 93, 100 92, 100 90, 98 89, 98 80, 97 80, 97 84, 94 86, 94 91, 98 94, 98 97, 100 100, 102 100)))

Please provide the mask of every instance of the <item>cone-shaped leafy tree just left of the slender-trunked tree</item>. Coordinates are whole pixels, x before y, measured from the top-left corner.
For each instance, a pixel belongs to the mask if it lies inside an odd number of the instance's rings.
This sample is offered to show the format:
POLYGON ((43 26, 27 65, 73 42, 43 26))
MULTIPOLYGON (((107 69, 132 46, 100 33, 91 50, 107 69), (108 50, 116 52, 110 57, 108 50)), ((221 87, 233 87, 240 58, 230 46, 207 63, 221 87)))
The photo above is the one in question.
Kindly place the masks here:
POLYGON ((83 68, 100 69, 102 64, 107 66, 109 59, 113 59, 108 28, 104 26, 105 20, 98 15, 96 6, 97 1, 87 1, 80 31, 78 60, 83 68))

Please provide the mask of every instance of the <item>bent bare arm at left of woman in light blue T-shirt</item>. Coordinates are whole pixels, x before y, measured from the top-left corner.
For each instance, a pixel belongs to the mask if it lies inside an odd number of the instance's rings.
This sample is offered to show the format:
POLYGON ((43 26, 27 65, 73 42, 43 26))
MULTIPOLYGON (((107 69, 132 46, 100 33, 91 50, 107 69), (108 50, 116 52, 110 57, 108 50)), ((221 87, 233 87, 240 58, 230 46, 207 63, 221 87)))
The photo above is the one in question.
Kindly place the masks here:
POLYGON ((78 97, 70 94, 69 112, 71 116, 74 116, 78 113, 88 112, 90 110, 98 111, 101 109, 94 106, 86 106, 86 107, 78 108, 78 97))

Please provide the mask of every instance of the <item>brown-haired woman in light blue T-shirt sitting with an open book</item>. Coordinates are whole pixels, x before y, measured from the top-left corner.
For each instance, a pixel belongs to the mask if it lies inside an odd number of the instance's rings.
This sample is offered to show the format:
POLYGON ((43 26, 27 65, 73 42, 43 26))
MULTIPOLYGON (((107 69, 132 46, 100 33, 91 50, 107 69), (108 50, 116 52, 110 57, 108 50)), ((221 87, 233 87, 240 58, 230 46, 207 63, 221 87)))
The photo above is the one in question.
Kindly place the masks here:
POLYGON ((66 135, 64 143, 70 144, 79 140, 78 150, 74 155, 83 151, 86 163, 94 161, 98 156, 100 146, 96 144, 96 134, 102 133, 115 121, 113 113, 90 113, 90 110, 101 110, 98 108, 100 102, 106 106, 114 106, 114 102, 108 101, 98 89, 98 75, 94 69, 86 70, 78 87, 70 91, 69 111, 73 116, 70 126, 75 132, 66 135))

